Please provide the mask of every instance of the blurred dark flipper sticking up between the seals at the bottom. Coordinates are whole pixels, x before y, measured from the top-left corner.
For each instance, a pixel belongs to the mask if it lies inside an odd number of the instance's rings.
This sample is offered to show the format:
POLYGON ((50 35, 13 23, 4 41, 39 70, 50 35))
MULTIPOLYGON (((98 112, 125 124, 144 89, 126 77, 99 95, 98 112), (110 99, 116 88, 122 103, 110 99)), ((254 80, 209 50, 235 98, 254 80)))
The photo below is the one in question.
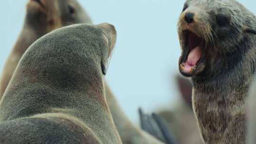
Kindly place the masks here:
POLYGON ((174 136, 167 128, 165 120, 162 117, 154 113, 152 116, 144 114, 141 108, 139 108, 139 116, 141 128, 147 133, 155 136, 166 144, 177 144, 174 140, 174 136))

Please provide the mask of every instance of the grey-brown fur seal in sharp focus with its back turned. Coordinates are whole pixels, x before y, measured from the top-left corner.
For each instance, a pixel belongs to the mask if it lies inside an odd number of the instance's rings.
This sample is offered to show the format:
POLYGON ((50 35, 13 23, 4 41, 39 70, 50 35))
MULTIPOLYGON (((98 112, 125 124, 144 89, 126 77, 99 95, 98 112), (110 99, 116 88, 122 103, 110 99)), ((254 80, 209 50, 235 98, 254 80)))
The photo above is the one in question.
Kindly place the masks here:
POLYGON ((104 92, 115 41, 110 24, 77 24, 31 45, 0 102, 0 143, 122 144, 104 92))

